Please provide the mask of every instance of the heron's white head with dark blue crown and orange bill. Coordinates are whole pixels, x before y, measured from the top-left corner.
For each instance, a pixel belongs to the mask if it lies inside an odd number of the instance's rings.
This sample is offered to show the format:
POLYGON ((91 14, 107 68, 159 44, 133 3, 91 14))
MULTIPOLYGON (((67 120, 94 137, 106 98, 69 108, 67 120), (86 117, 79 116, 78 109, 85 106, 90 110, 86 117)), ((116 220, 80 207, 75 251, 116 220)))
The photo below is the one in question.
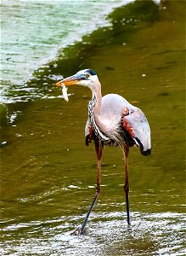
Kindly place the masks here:
POLYGON ((59 81, 56 85, 61 86, 62 84, 65 84, 65 86, 69 86, 72 84, 83 85, 93 90, 94 86, 99 84, 99 79, 93 70, 83 69, 77 72, 75 75, 59 81))

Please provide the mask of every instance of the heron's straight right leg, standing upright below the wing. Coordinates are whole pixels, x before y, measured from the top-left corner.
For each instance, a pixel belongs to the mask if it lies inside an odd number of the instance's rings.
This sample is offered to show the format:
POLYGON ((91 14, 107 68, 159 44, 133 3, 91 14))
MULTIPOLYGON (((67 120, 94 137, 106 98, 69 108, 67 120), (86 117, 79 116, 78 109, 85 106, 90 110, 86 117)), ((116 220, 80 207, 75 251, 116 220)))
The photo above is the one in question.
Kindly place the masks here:
POLYGON ((123 150, 125 160, 125 185, 124 190, 126 193, 126 207, 127 207, 127 223, 130 225, 130 211, 129 211, 129 183, 128 183, 128 153, 129 147, 126 145, 123 150))

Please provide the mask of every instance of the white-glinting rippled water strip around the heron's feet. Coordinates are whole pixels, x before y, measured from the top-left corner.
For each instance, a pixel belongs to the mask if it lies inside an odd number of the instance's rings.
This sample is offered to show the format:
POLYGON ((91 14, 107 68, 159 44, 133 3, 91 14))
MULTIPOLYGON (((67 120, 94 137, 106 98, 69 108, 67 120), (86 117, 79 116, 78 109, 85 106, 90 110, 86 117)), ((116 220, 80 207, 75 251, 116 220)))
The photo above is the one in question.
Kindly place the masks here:
POLYGON ((11 255, 185 255, 186 215, 174 212, 132 212, 132 226, 122 212, 93 213, 85 236, 72 236, 82 217, 45 222, 4 224, 3 253, 11 255), (11 235, 17 233, 17 238, 11 235), (14 234, 14 233, 13 233, 14 234))

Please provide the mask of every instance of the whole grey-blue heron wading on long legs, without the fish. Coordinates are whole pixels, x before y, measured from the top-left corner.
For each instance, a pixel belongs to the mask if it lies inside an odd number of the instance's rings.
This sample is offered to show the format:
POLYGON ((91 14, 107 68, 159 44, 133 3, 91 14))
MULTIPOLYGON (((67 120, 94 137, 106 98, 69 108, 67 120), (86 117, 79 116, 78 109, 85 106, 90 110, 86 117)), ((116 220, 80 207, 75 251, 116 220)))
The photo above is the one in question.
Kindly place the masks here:
POLYGON ((67 79, 59 81, 56 85, 84 85, 92 90, 93 97, 88 103, 88 119, 85 127, 86 145, 92 140, 95 142, 95 150, 98 159, 98 177, 93 203, 87 212, 87 217, 79 230, 82 234, 87 218, 93 209, 94 203, 100 193, 101 182, 101 158, 105 145, 111 147, 120 146, 125 160, 125 185, 127 203, 127 223, 130 224, 129 214, 129 183, 128 183, 128 153, 129 147, 135 145, 140 148, 141 154, 150 154, 150 130, 149 123, 144 113, 132 106, 126 99, 117 94, 101 95, 101 84, 93 70, 79 71, 67 79))

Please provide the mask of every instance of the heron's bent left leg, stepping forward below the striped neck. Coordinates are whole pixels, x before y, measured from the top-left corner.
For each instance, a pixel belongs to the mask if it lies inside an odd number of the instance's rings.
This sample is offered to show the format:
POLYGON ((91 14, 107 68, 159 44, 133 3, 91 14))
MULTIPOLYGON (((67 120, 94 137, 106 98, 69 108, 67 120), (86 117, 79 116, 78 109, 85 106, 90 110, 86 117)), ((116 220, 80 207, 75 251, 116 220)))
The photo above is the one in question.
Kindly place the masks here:
POLYGON ((85 229, 86 225, 87 225, 87 219, 90 215, 90 213, 93 210, 93 206, 97 200, 97 197, 101 191, 100 189, 100 183, 101 183, 101 157, 102 157, 102 149, 103 149, 103 145, 100 143, 95 143, 95 150, 96 150, 96 154, 97 154, 97 160, 98 160, 98 170, 97 170, 97 186, 96 186, 96 192, 93 198, 93 202, 92 205, 89 208, 89 211, 87 212, 87 216, 83 221, 82 227, 79 230, 79 234, 82 235, 83 234, 83 230, 85 229))

